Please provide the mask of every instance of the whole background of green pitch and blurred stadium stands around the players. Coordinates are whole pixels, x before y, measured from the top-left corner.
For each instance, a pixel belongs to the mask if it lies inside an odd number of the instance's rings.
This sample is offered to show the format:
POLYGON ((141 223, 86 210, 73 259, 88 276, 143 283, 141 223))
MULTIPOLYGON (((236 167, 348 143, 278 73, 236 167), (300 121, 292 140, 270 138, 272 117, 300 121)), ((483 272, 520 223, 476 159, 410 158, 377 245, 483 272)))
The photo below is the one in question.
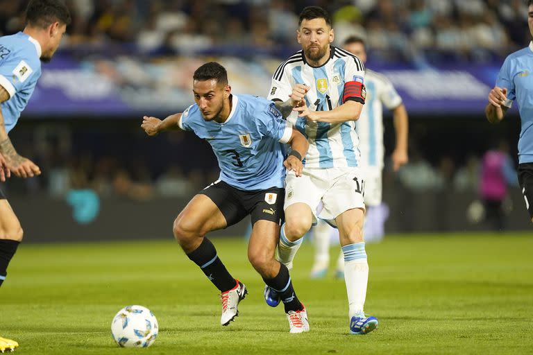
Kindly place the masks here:
MULTIPOLYGON (((490 125, 484 106, 505 55, 530 41, 523 1, 66 2, 73 24, 10 134, 43 175, 1 186, 24 228, 0 291, 0 336, 19 342, 15 353, 129 354, 110 336, 127 304, 158 318, 151 354, 532 353, 533 243, 521 193, 511 187, 505 203, 509 232, 468 218, 479 212, 482 155, 505 140, 516 162, 516 109, 490 125), (410 116, 410 162, 399 174, 385 119, 391 214, 384 241, 366 245, 365 310, 380 329, 364 337, 347 336, 335 270, 310 279, 311 243, 291 278, 312 330, 288 333, 246 259, 248 220, 214 240, 250 291, 237 321, 221 327, 217 290, 171 238, 189 196, 217 178, 214 155, 192 134, 149 138, 139 127, 144 114, 192 103, 192 72, 206 60, 228 68, 234 92, 266 95, 273 70, 298 49, 296 14, 307 5, 328 8, 341 38, 366 37, 368 67, 391 78, 410 116)), ((3 34, 22 28, 25 5, 0 0, 3 34)), ((338 246, 330 251, 335 263, 338 246)))

